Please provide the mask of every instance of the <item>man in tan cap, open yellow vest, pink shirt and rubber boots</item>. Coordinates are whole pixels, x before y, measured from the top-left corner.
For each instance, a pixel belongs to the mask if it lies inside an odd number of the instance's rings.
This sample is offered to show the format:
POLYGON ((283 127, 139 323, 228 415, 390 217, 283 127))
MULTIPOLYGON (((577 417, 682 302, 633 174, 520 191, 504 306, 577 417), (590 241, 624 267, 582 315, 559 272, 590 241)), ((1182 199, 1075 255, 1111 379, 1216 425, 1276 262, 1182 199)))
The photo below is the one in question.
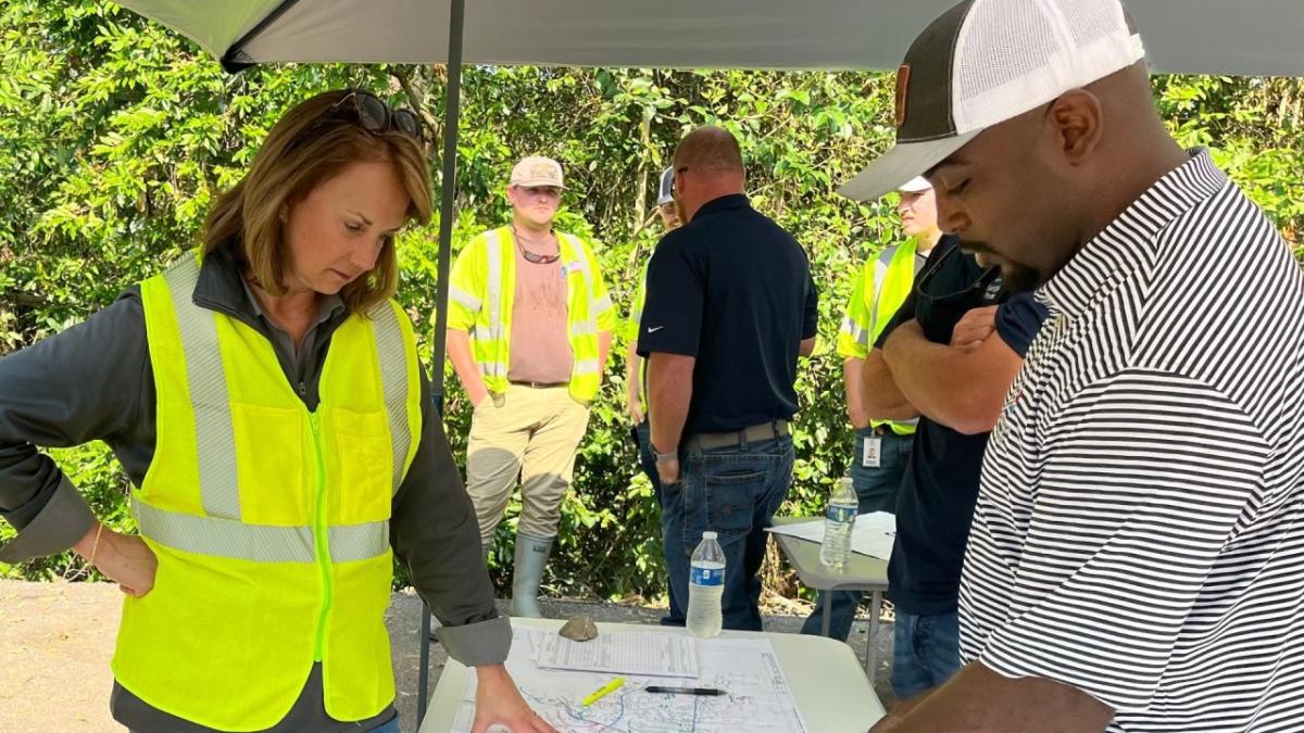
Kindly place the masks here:
POLYGON ((449 287, 449 359, 475 406, 467 492, 485 550, 520 479, 512 616, 541 616, 539 584, 615 326, 591 247, 553 230, 562 189, 556 160, 516 163, 511 223, 463 248, 449 287))

